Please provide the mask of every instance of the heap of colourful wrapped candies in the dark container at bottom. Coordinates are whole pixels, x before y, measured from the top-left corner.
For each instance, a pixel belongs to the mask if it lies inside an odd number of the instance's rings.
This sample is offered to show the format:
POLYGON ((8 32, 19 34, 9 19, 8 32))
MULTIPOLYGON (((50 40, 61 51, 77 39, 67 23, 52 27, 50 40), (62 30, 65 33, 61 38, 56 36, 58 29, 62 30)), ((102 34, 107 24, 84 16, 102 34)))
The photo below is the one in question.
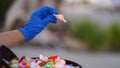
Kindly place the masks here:
MULTIPOLYGON (((60 59, 59 56, 26 58, 22 56, 19 60, 12 60, 10 62, 11 68, 77 68, 66 65, 66 61, 60 59)), ((79 67, 78 67, 79 68, 79 67)))

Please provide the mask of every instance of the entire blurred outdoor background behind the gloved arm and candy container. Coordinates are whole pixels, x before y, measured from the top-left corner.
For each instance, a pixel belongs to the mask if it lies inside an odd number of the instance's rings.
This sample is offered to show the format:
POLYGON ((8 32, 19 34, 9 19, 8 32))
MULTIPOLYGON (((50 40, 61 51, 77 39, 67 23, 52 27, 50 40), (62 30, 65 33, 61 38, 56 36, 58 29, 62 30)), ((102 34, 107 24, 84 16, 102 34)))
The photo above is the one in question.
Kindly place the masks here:
POLYGON ((19 57, 59 55, 83 68, 120 68, 120 0, 0 0, 0 32, 26 24, 30 13, 51 6, 67 24, 50 24, 11 50, 19 57))

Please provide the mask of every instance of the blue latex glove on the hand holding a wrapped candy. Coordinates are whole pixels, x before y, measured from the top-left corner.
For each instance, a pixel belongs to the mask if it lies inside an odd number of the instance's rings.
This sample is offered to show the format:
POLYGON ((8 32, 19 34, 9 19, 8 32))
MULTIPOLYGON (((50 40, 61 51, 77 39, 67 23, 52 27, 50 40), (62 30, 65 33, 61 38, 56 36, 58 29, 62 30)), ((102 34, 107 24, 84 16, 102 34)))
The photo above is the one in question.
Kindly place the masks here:
POLYGON ((57 19, 53 14, 58 14, 54 8, 44 6, 31 13, 27 24, 24 28, 19 28, 19 31, 26 38, 26 41, 33 39, 40 33, 50 22, 57 23, 57 19))

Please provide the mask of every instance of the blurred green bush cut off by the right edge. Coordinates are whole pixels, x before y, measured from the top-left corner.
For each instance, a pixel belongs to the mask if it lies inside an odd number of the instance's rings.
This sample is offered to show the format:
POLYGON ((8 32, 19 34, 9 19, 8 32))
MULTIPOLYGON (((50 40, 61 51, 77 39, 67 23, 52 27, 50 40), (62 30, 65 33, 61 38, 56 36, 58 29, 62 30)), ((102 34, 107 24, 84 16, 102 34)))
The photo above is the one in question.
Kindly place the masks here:
POLYGON ((111 51, 120 51, 120 22, 114 21, 108 29, 111 51))

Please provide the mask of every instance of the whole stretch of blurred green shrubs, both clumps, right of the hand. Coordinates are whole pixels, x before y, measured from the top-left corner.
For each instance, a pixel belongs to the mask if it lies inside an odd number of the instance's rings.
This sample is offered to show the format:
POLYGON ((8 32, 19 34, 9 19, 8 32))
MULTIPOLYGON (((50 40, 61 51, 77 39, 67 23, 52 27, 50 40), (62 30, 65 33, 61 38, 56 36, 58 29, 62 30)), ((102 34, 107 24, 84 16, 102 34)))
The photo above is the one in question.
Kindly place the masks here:
POLYGON ((105 29, 89 19, 75 20, 70 34, 86 42, 90 51, 120 51, 120 26, 116 22, 105 29))

